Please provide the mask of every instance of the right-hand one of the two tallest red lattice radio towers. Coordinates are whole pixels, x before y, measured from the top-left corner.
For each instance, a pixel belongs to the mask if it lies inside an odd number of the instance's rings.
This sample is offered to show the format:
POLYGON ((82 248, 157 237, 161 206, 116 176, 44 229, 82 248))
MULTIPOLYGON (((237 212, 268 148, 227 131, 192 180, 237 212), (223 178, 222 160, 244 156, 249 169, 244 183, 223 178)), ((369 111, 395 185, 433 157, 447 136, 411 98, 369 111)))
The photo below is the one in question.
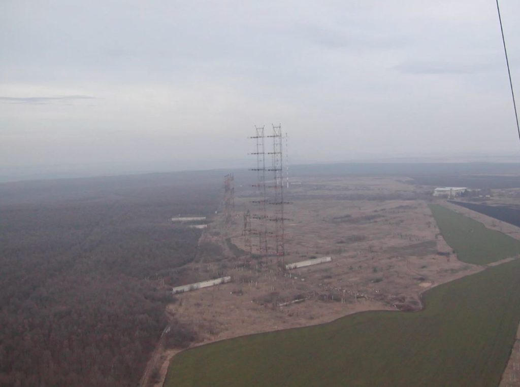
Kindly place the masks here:
POLYGON ((283 169, 283 145, 285 139, 285 145, 287 146, 287 136, 282 135, 282 126, 272 125, 272 135, 267 136, 272 138, 272 152, 269 152, 272 156, 272 164, 268 169, 272 172, 274 194, 272 195, 272 201, 269 204, 274 205, 274 216, 269 218, 270 221, 275 223, 275 253, 279 261, 283 262, 285 256, 285 228, 284 228, 284 205, 287 202, 283 198, 283 188, 285 185, 284 169, 283 169))

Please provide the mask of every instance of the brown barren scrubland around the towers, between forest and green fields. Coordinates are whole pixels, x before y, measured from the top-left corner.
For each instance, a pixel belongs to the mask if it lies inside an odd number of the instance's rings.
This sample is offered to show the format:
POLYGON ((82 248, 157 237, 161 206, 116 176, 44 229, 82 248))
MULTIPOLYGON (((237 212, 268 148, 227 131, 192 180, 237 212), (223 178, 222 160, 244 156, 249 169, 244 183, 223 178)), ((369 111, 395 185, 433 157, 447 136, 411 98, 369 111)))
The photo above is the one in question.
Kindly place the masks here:
MULTIPOLYGON (((232 283, 183 293, 167 307, 197 332, 194 345, 326 323, 360 311, 419 310, 421 292, 483 269, 457 260, 428 209, 431 192, 407 181, 353 177, 293 183, 287 195, 291 204, 286 211, 285 263, 322 256, 333 261, 286 271, 276 257, 254 259, 240 253, 238 249, 248 250, 243 211, 254 212, 251 201, 256 194, 238 191, 234 224, 226 226, 224 217, 217 216, 203 235, 225 258, 202 256, 188 269, 197 281, 230 275, 232 283), (236 247, 226 243, 228 238, 236 247)), ((447 206, 520 238, 514 226, 447 206)), ((254 235, 252 242, 257 245, 254 235)), ((153 368, 159 378, 142 385, 162 385, 175 353, 158 351, 153 368)))

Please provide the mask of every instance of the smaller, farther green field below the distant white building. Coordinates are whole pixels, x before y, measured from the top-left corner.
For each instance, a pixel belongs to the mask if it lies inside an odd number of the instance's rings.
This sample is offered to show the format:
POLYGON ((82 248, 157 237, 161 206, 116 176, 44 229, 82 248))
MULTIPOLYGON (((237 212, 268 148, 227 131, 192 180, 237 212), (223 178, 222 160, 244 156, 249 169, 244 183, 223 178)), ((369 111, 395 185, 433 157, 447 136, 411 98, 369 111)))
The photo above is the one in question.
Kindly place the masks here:
POLYGON ((440 233, 462 262, 487 264, 520 254, 520 241, 436 204, 430 205, 440 233))

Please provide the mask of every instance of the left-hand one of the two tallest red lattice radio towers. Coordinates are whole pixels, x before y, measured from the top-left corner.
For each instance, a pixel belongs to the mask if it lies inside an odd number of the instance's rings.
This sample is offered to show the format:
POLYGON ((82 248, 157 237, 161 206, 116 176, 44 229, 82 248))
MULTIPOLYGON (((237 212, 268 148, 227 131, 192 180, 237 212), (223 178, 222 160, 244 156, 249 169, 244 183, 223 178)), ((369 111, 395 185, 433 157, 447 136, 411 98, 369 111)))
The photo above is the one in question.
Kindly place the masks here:
POLYGON ((252 201, 256 204, 256 211, 252 214, 251 218, 255 219, 256 228, 251 231, 258 237, 258 245, 256 250, 258 255, 266 257, 268 255, 267 249, 267 187, 265 183, 265 133, 264 126, 255 126, 255 136, 250 137, 256 142, 255 152, 252 154, 256 155, 256 168, 252 170, 256 171, 256 184, 253 186, 258 192, 258 200, 252 201))

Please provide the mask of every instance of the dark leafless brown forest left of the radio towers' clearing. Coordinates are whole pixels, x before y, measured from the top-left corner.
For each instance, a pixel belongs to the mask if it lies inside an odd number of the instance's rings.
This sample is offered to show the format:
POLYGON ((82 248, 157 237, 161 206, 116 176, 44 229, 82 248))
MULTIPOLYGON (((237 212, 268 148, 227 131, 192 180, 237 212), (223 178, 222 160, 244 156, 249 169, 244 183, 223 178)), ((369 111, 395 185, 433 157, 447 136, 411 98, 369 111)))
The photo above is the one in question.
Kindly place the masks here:
MULTIPOLYGON (((183 176, 0 185, 0 385, 133 386, 170 326, 162 272, 194 259, 220 185, 183 176)), ((173 280, 174 278, 171 278, 173 280)))

